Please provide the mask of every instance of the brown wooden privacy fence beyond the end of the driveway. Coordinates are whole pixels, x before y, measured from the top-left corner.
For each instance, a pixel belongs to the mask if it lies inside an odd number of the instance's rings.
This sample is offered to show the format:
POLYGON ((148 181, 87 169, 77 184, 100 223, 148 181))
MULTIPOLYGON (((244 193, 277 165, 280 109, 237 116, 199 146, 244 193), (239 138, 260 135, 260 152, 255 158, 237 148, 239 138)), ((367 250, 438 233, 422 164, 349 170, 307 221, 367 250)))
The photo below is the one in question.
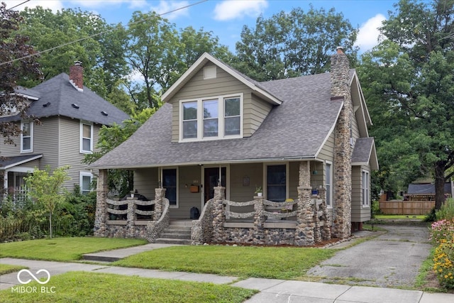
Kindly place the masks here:
POLYGON ((380 201, 382 214, 424 215, 431 212, 433 207, 435 207, 435 201, 380 201))

